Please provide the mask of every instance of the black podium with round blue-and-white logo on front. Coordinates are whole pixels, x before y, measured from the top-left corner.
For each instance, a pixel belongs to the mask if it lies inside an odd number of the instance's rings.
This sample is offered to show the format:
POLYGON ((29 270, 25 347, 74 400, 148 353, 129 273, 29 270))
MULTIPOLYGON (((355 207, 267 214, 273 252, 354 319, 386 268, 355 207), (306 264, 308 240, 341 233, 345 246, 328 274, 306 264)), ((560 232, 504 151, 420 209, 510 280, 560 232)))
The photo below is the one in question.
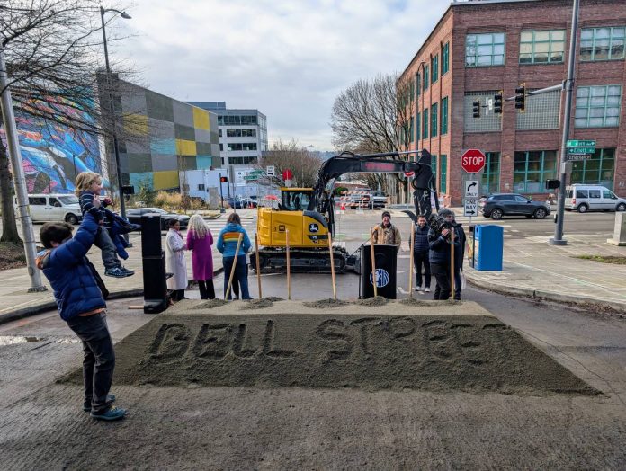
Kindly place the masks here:
MULTIPOLYGON (((376 288, 379 296, 396 298, 396 267, 398 265, 396 245, 374 245, 376 261, 376 288)), ((374 297, 373 277, 371 276, 371 246, 361 247, 361 297, 374 297)))

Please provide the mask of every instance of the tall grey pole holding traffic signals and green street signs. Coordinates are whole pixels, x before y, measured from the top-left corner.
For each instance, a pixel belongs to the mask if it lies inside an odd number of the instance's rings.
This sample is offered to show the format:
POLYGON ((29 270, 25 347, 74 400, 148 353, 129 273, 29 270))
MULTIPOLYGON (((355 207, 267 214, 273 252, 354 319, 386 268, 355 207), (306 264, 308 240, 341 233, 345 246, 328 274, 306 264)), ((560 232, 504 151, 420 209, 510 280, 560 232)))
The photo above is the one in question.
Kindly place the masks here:
POLYGON ((561 139, 560 159, 559 159, 559 200, 557 201, 557 226, 554 227, 554 237, 550 239, 551 245, 567 245, 568 241, 563 239, 563 216, 565 214, 565 185, 568 178, 567 173, 567 146, 569 138, 569 118, 572 111, 572 90, 574 89, 574 65, 576 63, 576 39, 578 34, 578 4, 580 0, 574 0, 572 10, 572 31, 569 38, 569 58, 568 58, 568 78, 565 81, 565 111, 563 113, 563 138, 561 139))

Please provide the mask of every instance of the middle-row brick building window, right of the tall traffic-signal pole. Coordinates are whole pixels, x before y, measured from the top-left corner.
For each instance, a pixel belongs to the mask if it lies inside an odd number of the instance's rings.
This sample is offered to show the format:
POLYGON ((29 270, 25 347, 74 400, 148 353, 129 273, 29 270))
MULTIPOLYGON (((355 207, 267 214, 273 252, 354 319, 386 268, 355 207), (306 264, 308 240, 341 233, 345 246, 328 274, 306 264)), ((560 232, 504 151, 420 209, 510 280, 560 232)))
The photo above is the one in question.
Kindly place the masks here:
POLYGON ((579 86, 576 93, 576 128, 611 128, 620 125, 622 85, 579 86))

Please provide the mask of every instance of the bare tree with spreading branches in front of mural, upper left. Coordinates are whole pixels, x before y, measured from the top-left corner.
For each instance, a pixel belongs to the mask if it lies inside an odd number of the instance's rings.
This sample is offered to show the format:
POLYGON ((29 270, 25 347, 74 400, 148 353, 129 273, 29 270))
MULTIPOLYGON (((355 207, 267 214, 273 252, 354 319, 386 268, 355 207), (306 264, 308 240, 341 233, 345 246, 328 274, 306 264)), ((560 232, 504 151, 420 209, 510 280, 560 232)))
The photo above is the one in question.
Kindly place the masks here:
MULTIPOLYGON (((29 118, 41 128, 63 126, 76 134, 110 134, 111 117, 95 100, 94 72, 102 44, 98 8, 96 0, 12 0, 0 5, 0 41, 18 119, 29 118)), ((0 147, 0 240, 19 243, 6 149, 1 142, 0 147)))

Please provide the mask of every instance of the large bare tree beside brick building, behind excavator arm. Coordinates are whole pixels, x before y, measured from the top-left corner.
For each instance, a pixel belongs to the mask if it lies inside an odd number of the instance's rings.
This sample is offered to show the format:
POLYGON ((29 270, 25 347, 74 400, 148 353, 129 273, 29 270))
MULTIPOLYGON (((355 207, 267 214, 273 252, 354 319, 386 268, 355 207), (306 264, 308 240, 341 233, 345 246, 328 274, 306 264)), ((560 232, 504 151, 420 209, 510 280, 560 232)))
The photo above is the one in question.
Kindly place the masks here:
MULTIPOLYGON (((357 153, 390 152, 407 147, 413 129, 413 85, 398 83, 397 74, 359 80, 340 93, 331 113, 333 145, 357 153)), ((363 175, 371 188, 389 191, 389 183, 407 195, 404 175, 363 175)), ((393 190, 397 190, 394 188, 393 190)))

